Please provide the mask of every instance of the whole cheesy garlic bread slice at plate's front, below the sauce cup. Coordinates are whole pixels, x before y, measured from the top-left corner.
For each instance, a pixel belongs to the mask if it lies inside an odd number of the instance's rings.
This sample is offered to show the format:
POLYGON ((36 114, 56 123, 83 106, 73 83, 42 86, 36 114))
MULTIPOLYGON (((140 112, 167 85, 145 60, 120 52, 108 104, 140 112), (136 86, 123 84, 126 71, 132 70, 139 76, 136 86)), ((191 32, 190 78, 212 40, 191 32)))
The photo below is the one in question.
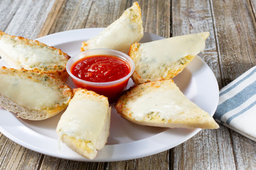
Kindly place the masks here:
POLYGON ((110 106, 107 97, 94 91, 74 89, 74 93, 56 132, 75 152, 94 159, 110 135, 110 106))

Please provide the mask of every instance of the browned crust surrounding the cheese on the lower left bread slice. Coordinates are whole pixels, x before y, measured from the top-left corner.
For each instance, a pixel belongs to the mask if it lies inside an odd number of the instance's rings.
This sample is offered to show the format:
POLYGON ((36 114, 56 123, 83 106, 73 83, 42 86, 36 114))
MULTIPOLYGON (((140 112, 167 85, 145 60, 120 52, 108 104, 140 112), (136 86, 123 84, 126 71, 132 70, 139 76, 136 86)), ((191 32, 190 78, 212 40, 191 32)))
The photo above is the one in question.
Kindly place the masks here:
MULTIPOLYGON (((48 86, 48 88, 60 91, 62 94, 62 98, 59 98, 58 103, 53 103, 52 106, 33 109, 28 108, 28 106, 21 106, 21 104, 17 103, 17 101, 11 99, 9 96, 1 94, 0 92, 0 106, 8 111, 16 113, 17 117, 23 119, 45 120, 47 118, 51 118, 60 113, 60 111, 63 111, 63 109, 68 106, 70 99, 73 97, 73 91, 70 86, 50 74, 33 72, 26 69, 11 69, 6 67, 1 67, 0 74, 6 74, 9 77, 15 75, 18 77, 18 79, 27 79, 27 81, 37 82, 39 84, 43 84, 43 86, 48 86)), ((23 97, 26 98, 26 96, 23 97)))

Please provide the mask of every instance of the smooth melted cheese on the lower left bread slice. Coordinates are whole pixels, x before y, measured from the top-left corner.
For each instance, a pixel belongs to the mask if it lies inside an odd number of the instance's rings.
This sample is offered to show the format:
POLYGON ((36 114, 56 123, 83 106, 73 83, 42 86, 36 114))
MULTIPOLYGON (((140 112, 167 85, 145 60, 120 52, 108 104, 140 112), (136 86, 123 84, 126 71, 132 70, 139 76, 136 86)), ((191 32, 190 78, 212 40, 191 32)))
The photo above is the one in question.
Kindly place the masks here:
POLYGON ((31 79, 0 74, 0 93, 21 106, 41 109, 57 104, 62 98, 60 91, 31 79))

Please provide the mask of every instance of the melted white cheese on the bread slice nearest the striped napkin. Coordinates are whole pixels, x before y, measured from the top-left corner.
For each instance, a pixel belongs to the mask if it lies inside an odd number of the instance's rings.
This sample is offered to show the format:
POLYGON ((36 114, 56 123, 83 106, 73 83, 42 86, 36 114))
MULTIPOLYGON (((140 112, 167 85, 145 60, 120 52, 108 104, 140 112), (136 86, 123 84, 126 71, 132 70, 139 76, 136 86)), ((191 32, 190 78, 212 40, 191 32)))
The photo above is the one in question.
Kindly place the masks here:
MULTIPOLYGON (((161 120, 175 120, 189 115, 195 104, 184 96, 178 87, 158 88, 129 101, 135 120, 142 121, 148 115, 158 115, 161 120)), ((192 116, 192 115, 191 115, 192 116)))

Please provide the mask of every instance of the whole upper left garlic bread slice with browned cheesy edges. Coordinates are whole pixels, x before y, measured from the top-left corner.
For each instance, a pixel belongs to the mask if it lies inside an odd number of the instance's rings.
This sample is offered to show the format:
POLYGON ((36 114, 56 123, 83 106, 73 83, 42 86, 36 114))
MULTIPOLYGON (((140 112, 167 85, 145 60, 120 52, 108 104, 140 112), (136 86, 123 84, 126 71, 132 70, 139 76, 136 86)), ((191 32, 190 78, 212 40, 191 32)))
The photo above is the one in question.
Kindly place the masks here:
POLYGON ((14 69, 28 69, 68 79, 70 56, 37 40, 8 35, 0 30, 0 56, 14 69))

